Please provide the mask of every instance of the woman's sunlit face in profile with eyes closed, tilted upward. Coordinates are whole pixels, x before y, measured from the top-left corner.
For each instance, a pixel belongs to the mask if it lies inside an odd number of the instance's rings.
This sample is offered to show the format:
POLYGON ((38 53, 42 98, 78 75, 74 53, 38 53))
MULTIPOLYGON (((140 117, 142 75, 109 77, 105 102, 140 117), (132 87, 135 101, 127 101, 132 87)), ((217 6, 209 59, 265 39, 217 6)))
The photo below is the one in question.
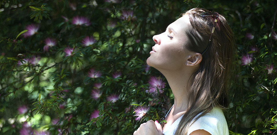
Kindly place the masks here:
POLYGON ((166 31, 153 36, 155 46, 150 52, 147 64, 164 70, 179 70, 189 55, 188 50, 184 49, 184 44, 188 42, 186 38, 186 30, 191 28, 191 24, 187 15, 177 19, 169 24, 166 31))

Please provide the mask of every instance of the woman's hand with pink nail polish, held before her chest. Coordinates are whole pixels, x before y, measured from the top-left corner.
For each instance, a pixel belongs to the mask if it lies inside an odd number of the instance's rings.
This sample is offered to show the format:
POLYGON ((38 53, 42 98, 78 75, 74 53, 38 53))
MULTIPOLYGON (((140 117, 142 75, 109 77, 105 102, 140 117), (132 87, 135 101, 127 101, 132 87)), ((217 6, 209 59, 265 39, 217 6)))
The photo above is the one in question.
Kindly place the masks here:
POLYGON ((158 121, 149 120, 141 124, 138 130, 134 132, 134 135, 162 135, 162 126, 158 121))

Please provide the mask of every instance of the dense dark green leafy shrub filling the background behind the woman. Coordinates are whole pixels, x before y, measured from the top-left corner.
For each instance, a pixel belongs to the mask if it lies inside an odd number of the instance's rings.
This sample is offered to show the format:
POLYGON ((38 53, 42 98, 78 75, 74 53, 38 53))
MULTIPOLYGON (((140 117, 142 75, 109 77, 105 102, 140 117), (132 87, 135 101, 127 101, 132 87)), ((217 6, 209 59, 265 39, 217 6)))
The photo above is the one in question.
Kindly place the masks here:
POLYGON ((240 70, 229 82, 229 134, 277 134, 275 1, 118 2, 1 1, 0 134, 20 134, 25 122, 72 135, 132 134, 147 120, 165 122, 173 94, 168 85, 147 92, 150 76, 161 74, 145 61, 152 36, 193 7, 222 14, 235 35, 240 70), (142 105, 150 110, 135 121, 142 105))

